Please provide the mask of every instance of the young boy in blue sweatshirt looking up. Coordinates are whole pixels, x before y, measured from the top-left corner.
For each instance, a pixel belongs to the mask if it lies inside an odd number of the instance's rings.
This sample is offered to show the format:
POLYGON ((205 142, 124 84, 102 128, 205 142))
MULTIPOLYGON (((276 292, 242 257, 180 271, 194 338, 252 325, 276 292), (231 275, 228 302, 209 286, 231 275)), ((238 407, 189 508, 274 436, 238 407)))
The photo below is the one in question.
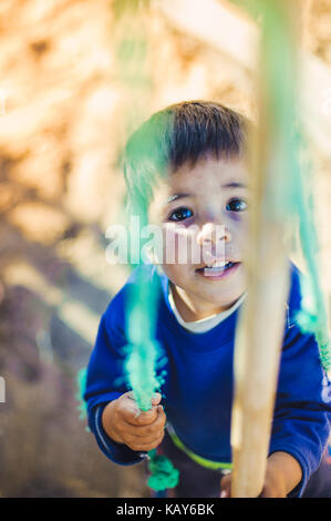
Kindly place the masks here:
MULTIPOLYGON (((155 114, 126 147, 130 196, 147 201, 151 222, 167 229, 174 243, 187 231, 187 249, 207 245, 208 258, 180 264, 176 246, 175 263, 163 257, 161 266, 143 265, 132 273, 101 319, 84 398, 101 450, 114 462, 133 464, 158 448, 179 470, 175 493, 182 498, 219 497, 220 478, 223 497, 230 496, 226 470, 231 468, 234 338, 246 297, 248 126, 242 115, 218 103, 184 102, 155 114), (195 232, 189 232, 192 225, 195 232), (126 298, 142 269, 158 284, 155 337, 167 365, 163 399, 156 394, 152 409, 138 415, 121 377, 126 298)), ((261 496, 331 497, 331 467, 323 456, 330 430, 329 380, 314 337, 303 335, 296 324, 299 272, 290 262, 289 268, 291 288, 261 496)))

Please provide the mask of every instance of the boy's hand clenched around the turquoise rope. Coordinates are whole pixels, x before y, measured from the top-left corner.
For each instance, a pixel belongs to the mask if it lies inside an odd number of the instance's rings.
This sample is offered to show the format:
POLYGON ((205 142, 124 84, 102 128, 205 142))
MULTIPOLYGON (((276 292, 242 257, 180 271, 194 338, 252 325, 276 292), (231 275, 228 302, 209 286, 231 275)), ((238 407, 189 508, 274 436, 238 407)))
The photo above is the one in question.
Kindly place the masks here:
POLYGON ((156 392, 152 408, 142 412, 132 398, 132 392, 125 392, 104 408, 103 428, 110 438, 117 443, 125 443, 132 450, 155 449, 163 440, 166 422, 159 401, 161 395, 156 392))

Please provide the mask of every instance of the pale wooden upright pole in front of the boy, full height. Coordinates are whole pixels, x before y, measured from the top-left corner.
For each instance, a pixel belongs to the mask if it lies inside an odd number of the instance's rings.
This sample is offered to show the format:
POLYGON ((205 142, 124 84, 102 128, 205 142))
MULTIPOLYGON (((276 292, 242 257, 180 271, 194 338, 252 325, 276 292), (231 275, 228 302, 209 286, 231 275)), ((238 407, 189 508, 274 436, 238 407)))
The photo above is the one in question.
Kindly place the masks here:
MULTIPOLYGON (((283 57, 283 49, 278 49, 277 42, 282 37, 291 44, 287 18, 290 14, 286 0, 268 0, 266 3, 259 125, 250 162, 252 203, 246 257, 248 296, 238 320, 235 343, 234 498, 255 498, 262 491, 289 292, 285 237, 291 197, 291 151, 287 147, 291 132, 287 126, 291 127, 291 124, 288 125, 287 108, 293 88, 290 83, 293 63, 290 55, 283 57), (273 83, 278 73, 283 76, 278 76, 277 91, 273 83)), ((290 48, 287 51, 291 54, 290 48)))

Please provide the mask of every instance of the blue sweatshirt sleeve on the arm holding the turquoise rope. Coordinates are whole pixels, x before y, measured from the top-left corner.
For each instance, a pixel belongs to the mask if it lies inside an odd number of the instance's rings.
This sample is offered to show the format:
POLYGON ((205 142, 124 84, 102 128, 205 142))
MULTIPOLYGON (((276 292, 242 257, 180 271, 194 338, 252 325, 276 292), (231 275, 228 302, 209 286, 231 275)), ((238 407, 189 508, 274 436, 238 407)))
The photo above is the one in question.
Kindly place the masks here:
POLYGON ((145 453, 135 452, 127 446, 113 441, 101 421, 104 407, 128 390, 124 378, 126 339, 116 304, 116 299, 112 302, 101 318, 87 366, 84 400, 87 405, 89 427, 99 448, 113 462, 127 466, 142 461, 145 453))

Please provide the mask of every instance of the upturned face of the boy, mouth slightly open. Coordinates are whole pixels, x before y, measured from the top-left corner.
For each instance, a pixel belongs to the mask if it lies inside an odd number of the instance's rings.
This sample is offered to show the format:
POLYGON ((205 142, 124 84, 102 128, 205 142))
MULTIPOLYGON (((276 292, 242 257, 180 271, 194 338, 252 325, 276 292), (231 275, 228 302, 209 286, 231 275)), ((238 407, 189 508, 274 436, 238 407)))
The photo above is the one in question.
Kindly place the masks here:
POLYGON ((194 167, 183 165, 155 188, 149 216, 163 228, 161 265, 177 298, 180 295, 189 303, 197 317, 227 309, 246 290, 247 184, 244 160, 207 157, 194 167), (179 237, 184 236, 187 262, 179 264, 179 237), (167 258, 169 244, 175 245, 175 263, 174 257, 167 258), (200 251, 200 258, 192 257, 192 246, 200 251), (225 269, 225 263, 232 264, 225 269))

